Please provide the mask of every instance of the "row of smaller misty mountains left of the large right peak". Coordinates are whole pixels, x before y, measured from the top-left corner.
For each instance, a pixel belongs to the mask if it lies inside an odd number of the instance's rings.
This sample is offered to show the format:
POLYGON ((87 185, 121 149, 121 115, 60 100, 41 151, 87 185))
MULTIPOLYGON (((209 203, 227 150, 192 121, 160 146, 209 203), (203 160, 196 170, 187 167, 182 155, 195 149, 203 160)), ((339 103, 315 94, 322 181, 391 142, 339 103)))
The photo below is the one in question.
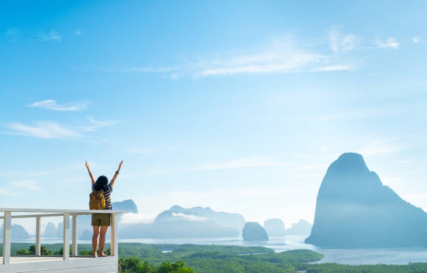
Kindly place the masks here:
MULTIPOLYGON (((130 213, 137 213, 137 205, 132 200, 113 202, 114 210, 125 210, 130 213)), ((257 223, 256 223, 257 224, 257 223)), ((301 232, 308 222, 300 220, 298 224, 292 224, 292 228, 285 230, 285 225, 280 219, 269 219, 264 222, 265 230, 258 228, 256 232, 253 226, 249 226, 248 237, 256 237, 258 230, 262 233, 269 233, 270 236, 283 236, 287 233, 307 235, 301 232), (302 224, 301 224, 302 223, 302 224), (301 226, 303 228, 301 229, 301 226)), ((308 224, 310 225, 310 224, 308 224)), ((91 216, 81 215, 77 218, 77 237, 80 240, 91 240, 92 227, 91 216)), ((216 212, 211 208, 182 208, 179 205, 172 206, 158 214, 153 223, 126 224, 119 219, 119 235, 121 238, 195 238, 195 237, 238 237, 245 226, 245 219, 241 214, 229 212, 216 212)), ((1 229, 0 229, 1 231, 1 229)), ((27 239, 29 234, 25 229, 17 224, 12 226, 13 239, 27 239)), ((73 227, 70 226, 70 233, 73 227)), ((1 233, 0 233, 1 234, 1 233)), ((53 224, 47 223, 43 231, 43 237, 61 239, 63 236, 62 222, 53 224)), ((110 229, 107 232, 110 236, 110 229)), ((264 236, 264 235, 260 235, 264 236)), ((251 240, 251 239, 249 239, 251 240)))

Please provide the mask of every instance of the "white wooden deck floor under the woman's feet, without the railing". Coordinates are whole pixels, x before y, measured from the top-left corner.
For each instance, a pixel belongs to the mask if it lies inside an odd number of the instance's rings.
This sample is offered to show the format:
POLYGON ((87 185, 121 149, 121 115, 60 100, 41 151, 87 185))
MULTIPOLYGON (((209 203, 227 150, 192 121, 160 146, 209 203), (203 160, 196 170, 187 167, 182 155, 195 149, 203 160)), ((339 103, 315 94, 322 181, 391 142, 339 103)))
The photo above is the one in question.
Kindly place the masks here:
POLYGON ((91 258, 87 256, 10 256, 10 265, 0 264, 0 272, 67 272, 67 273, 109 273, 117 272, 117 257, 91 258))

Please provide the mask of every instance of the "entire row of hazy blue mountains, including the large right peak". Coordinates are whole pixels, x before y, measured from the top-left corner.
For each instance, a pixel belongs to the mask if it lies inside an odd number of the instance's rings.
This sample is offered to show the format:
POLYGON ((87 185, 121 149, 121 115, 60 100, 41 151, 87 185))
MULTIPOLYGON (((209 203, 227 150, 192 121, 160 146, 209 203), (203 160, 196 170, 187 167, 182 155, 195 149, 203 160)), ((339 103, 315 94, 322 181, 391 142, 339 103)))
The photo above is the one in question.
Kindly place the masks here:
MULTIPOLYGON (((114 209, 137 213, 132 200, 112 203, 114 209)), ((130 214, 131 215, 131 214, 130 214)), ((119 221, 121 238, 237 237, 245 226, 241 214, 216 212, 211 208, 172 206, 149 224, 119 221)), ((71 227, 70 227, 71 228, 71 227)), ((78 218, 78 236, 90 240, 91 216, 78 218)), ((3 227, 0 227, 0 234, 3 227)), ((62 223, 48 223, 44 237, 62 237, 62 223)), ((407 203, 382 185, 357 153, 340 155, 328 168, 317 194, 313 226, 305 220, 285 229, 280 219, 269 219, 264 228, 246 223, 246 240, 269 236, 309 235, 306 243, 322 247, 427 247, 427 213, 407 203)), ((108 235, 107 235, 108 236, 108 235)), ((20 225, 12 226, 13 239, 27 239, 20 225)))

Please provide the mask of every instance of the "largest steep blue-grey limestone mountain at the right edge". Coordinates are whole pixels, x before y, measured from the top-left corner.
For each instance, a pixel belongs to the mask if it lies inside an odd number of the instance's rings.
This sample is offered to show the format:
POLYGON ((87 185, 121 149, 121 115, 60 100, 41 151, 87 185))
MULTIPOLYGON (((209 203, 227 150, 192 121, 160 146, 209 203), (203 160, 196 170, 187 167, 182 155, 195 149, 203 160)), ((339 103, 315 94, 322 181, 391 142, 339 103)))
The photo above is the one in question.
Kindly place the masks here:
POLYGON ((427 213, 382 185, 364 158, 344 153, 329 166, 306 243, 324 247, 425 247, 427 213))

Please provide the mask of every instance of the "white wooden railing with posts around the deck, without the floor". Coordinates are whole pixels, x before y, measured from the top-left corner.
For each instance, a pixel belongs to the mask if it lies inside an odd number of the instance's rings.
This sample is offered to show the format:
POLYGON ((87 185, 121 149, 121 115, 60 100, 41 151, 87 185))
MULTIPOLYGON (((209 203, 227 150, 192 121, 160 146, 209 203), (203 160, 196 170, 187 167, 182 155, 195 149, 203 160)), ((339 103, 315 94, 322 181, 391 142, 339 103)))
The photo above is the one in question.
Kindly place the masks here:
POLYGON ((124 213, 122 210, 48 210, 32 208, 0 208, 4 212, 3 217, 3 265, 10 265, 10 242, 12 219, 15 218, 36 218, 36 256, 40 256, 41 240, 41 217, 63 217, 63 260, 70 258, 70 216, 73 217, 73 240, 72 256, 77 256, 77 216, 92 213, 111 214, 111 256, 119 256, 118 243, 118 214, 124 213), (16 214, 13 212, 31 212, 32 214, 16 214))

